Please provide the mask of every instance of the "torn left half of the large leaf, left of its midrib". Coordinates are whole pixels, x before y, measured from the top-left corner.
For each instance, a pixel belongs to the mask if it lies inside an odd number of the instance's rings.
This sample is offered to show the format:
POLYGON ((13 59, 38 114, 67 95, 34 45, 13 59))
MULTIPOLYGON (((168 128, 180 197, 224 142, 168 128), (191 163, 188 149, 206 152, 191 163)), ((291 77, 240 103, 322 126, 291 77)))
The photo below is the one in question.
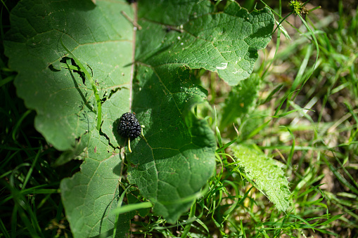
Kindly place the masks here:
POLYGON ((98 112, 90 82, 60 64, 71 62, 63 58, 68 52, 61 40, 93 73, 106 100, 103 119, 115 121, 129 111, 134 44, 133 27, 120 11, 133 12, 126 1, 98 1, 96 6, 84 0, 21 1, 11 12, 12 27, 4 41, 9 66, 18 71, 18 95, 37 111, 37 130, 58 150, 68 150, 64 157, 85 158, 81 172, 60 185, 75 237, 112 237, 115 229, 124 237, 130 217, 120 215, 115 227, 111 211, 117 206, 121 159, 95 128, 98 112), (111 113, 106 111, 110 102, 115 105, 111 113))

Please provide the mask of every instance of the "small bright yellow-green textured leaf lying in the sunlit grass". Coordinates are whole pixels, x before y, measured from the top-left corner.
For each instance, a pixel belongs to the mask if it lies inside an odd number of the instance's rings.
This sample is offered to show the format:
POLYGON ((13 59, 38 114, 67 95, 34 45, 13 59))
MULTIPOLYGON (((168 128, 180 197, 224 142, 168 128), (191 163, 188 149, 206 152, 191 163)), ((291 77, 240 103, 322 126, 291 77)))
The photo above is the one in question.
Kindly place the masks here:
POLYGON ((232 150, 250 183, 273 202, 276 209, 286 211, 290 205, 290 188, 279 161, 244 145, 233 146, 232 150))

